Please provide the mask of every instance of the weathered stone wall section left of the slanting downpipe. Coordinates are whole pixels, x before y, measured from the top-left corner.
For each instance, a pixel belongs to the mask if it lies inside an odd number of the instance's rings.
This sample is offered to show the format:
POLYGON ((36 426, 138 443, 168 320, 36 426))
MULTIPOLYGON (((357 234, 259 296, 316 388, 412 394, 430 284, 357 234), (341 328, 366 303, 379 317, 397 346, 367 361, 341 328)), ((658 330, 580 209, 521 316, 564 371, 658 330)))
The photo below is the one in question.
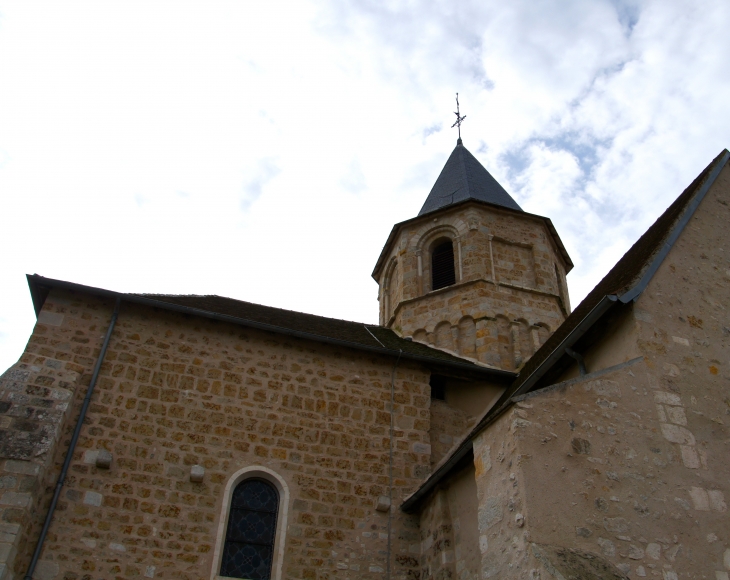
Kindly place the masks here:
MULTIPOLYGON (((0 377, 3 580, 22 577, 23 562, 35 549, 50 502, 48 491, 59 473, 54 461, 58 443, 75 422, 108 323, 107 313, 94 308, 78 318, 69 317, 62 307, 54 313, 42 312, 32 338, 41 356, 24 355, 0 377), (49 340, 49 334, 55 338, 49 340)), ((45 564, 36 570, 39 578, 48 571, 45 564)))

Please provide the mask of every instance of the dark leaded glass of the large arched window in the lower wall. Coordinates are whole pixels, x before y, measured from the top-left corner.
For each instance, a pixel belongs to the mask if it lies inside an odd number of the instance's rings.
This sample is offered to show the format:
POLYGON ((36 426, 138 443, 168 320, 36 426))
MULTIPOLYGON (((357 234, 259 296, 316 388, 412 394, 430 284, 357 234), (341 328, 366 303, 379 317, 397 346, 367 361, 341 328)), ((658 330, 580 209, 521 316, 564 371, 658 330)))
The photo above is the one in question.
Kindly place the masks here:
POLYGON ((279 494, 263 479, 236 486, 228 514, 221 576, 270 580, 279 494))

